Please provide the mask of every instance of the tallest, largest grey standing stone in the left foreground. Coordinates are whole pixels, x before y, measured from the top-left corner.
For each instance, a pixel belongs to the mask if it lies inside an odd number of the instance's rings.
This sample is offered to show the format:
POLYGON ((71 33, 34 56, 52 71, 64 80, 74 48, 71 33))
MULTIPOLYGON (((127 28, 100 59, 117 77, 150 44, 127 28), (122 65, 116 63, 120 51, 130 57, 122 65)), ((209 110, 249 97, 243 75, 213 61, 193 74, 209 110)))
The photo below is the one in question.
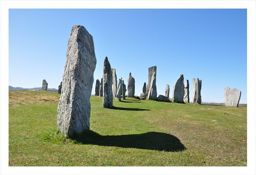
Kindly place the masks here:
POLYGON ((90 96, 96 57, 92 35, 81 25, 72 27, 62 76, 57 125, 72 137, 90 128, 90 96))

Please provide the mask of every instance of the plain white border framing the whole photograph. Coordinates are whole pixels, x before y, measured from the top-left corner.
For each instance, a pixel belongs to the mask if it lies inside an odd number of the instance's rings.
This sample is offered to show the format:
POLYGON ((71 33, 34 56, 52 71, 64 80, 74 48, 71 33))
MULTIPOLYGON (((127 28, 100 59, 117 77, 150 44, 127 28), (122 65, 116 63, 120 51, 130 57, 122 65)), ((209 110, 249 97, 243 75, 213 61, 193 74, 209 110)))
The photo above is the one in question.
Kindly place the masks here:
POLYGON ((256 3, 255 0, 139 0, 139 1, 31 1, 0 2, 0 174, 256 174, 256 3), (8 9, 116 9, 116 8, 163 8, 163 9, 247 9, 247 167, 9 167, 8 166, 8 9))

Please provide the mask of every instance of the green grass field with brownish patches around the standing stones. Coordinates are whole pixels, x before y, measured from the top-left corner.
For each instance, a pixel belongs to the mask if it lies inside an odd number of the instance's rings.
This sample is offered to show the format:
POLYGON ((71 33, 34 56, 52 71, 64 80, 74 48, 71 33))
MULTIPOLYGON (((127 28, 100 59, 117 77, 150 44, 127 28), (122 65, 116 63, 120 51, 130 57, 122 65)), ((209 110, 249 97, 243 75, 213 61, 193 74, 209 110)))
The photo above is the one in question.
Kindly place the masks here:
POLYGON ((91 97, 90 131, 56 128, 60 95, 9 91, 9 166, 247 166, 247 107, 91 97))

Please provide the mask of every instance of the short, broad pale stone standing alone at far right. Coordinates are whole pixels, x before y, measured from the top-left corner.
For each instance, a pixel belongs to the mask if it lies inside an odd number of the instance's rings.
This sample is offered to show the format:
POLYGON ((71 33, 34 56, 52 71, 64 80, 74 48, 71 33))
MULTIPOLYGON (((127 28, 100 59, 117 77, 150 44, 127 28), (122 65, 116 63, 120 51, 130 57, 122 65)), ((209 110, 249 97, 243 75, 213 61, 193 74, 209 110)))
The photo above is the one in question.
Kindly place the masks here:
POLYGON ((235 88, 230 89, 229 87, 226 87, 224 89, 225 106, 237 106, 238 107, 240 97, 241 97, 240 90, 237 90, 235 88))

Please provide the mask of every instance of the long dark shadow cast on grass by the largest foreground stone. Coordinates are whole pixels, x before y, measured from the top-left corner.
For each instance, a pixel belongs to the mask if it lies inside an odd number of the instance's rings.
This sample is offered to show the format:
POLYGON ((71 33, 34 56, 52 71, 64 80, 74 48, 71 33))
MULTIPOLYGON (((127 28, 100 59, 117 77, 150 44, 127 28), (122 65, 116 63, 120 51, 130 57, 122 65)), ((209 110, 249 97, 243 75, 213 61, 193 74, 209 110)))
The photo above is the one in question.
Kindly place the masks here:
POLYGON ((71 139, 76 140, 81 144, 148 149, 166 152, 178 152, 186 149, 177 137, 158 132, 120 136, 101 136, 92 130, 87 130, 82 134, 76 134, 71 139))

